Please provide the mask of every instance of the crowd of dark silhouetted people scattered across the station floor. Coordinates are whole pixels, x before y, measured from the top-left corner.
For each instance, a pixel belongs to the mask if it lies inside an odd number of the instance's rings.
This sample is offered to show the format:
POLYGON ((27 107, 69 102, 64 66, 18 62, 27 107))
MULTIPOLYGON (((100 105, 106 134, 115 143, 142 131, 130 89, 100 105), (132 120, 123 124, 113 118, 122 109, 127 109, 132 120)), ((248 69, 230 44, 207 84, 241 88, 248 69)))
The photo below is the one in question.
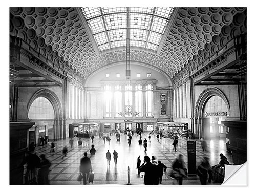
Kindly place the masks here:
MULTIPOLYGON (((156 156, 152 156, 152 159, 150 159, 150 157, 147 156, 147 150, 148 150, 147 146, 148 146, 148 142, 151 142, 151 134, 150 133, 148 134, 148 140, 146 139, 146 137, 144 138, 144 140, 142 140, 141 132, 137 131, 136 134, 137 134, 136 136, 139 137, 139 140, 138 140, 139 145, 143 144, 144 152, 145 152, 145 156, 142 164, 141 164, 140 156, 137 158, 136 168, 138 169, 138 175, 140 176, 141 173, 144 174, 143 178, 144 178, 145 185, 162 184, 162 177, 164 173, 165 173, 165 179, 166 179, 167 166, 163 164, 160 160, 157 161, 156 156)), ((116 132, 113 132, 113 131, 109 132, 109 134, 106 134, 106 136, 104 135, 104 133, 99 132, 99 139, 102 139, 104 144, 105 144, 105 141, 108 141, 110 145, 112 135, 115 135, 116 141, 120 142, 121 132, 118 130, 116 132)), ((130 147, 132 144, 133 136, 134 136, 133 130, 125 130, 124 135, 126 136, 128 141, 127 143, 130 147)), ((156 140, 158 142, 159 142, 159 136, 161 139, 162 134, 161 133, 156 134, 156 140)), ((94 143, 94 136, 91 136, 91 142, 94 143)), ((71 138, 69 140, 70 150, 74 148, 74 143, 75 141, 73 140, 73 138, 71 138)), ((203 138, 201 138, 200 143, 201 143, 202 150, 206 151, 207 150, 206 141, 203 138)), ((82 146, 83 141, 81 140, 81 138, 78 139, 77 144, 78 144, 77 145, 78 147, 82 146)), ((177 152, 178 138, 174 138, 172 145, 174 146, 173 150, 177 152)), ((51 153, 55 152, 55 143, 52 142, 50 146, 51 146, 50 152, 51 153)), ((227 152, 230 153, 229 142, 226 144, 226 146, 227 146, 227 152)), ((25 184, 33 184, 36 182, 33 180, 32 181, 28 180, 28 175, 30 173, 32 174, 32 177, 35 178, 36 168, 39 168, 37 184, 41 184, 41 185, 50 184, 48 179, 48 174, 50 171, 49 169, 51 166, 51 162, 47 160, 45 154, 41 154, 38 157, 34 151, 35 151, 35 144, 31 143, 28 147, 28 151, 26 152, 26 155, 23 161, 23 164, 27 164, 27 171, 25 174, 25 184)), ((62 159, 67 157, 68 151, 69 150, 67 145, 62 148, 62 156, 61 156, 62 159)), ((91 156, 96 154, 96 149, 94 144, 91 145, 89 152, 91 156)), ((106 152, 105 158, 107 160, 107 166, 110 167, 110 162, 113 157, 114 165, 115 167, 117 167, 118 152, 114 150, 113 153, 112 154, 111 153, 112 152, 110 152, 109 150, 106 152)), ((84 157, 82 157, 80 160, 79 172, 80 172, 80 176, 83 178, 83 184, 86 185, 89 183, 89 178, 93 172, 92 172, 91 160, 88 157, 87 152, 84 152, 83 155, 84 157)), ((220 154, 219 164, 214 166, 210 166, 208 157, 203 157, 200 164, 197 166, 197 170, 196 170, 196 174, 198 175, 201 184, 206 185, 207 181, 211 182, 212 174, 215 173, 217 168, 224 167, 225 164, 229 165, 229 162, 222 153, 220 154)), ((187 177, 187 169, 185 167, 185 162, 183 160, 182 154, 179 154, 177 158, 173 161, 170 171, 167 173, 167 176, 176 179, 179 185, 183 184, 183 178, 187 177)))

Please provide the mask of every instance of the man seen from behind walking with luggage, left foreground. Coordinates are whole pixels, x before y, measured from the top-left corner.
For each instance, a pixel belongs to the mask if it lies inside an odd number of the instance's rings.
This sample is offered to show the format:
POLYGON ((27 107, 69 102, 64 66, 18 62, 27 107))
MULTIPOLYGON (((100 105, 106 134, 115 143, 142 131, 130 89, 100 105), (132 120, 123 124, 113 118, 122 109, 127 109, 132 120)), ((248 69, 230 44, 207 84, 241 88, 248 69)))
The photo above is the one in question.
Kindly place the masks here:
POLYGON ((81 158, 79 171, 83 175, 83 184, 86 185, 92 172, 92 164, 90 158, 87 157, 87 152, 84 152, 83 155, 84 157, 81 158))

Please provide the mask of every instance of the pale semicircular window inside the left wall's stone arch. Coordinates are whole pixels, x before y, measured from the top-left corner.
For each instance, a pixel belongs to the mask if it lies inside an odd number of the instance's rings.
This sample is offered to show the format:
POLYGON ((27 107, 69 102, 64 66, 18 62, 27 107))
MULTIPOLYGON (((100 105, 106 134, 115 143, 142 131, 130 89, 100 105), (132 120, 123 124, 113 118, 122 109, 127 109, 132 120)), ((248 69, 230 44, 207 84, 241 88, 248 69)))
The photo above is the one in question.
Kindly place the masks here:
POLYGON ((45 97, 38 97, 30 106, 29 119, 54 119, 52 103, 45 97))

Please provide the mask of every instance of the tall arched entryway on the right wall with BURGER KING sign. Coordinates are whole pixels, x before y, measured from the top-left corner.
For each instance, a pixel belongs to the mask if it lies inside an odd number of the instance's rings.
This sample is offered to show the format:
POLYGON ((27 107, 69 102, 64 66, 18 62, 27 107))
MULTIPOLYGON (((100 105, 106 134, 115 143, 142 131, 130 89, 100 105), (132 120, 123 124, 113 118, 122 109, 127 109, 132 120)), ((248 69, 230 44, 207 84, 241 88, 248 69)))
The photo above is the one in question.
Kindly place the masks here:
POLYGON ((226 137, 224 121, 230 113, 230 106, 221 90, 209 87, 199 95, 195 106, 194 134, 198 138, 226 137))

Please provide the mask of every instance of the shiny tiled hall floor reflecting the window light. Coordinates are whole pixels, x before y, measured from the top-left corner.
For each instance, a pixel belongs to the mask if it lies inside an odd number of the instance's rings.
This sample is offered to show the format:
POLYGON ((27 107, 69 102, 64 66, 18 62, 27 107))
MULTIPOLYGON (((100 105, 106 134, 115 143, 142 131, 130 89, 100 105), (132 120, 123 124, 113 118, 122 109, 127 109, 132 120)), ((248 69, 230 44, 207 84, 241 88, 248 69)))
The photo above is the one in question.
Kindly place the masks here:
MULTIPOLYGON (((142 133, 142 138, 147 138, 148 133, 142 133)), ((74 146, 71 148, 69 145, 69 139, 55 142, 56 150, 54 153, 50 153, 50 145, 36 147, 36 154, 45 154, 46 158, 52 163, 49 174, 51 185, 81 185, 77 181, 79 173, 80 159, 83 157, 83 152, 88 152, 92 162, 93 172, 95 173, 94 182, 90 185, 143 185, 143 178, 138 176, 136 169, 137 158, 140 156, 143 162, 145 155, 154 155, 164 163, 168 168, 171 167, 172 162, 179 154, 184 155, 184 161, 187 164, 187 139, 179 139, 177 152, 173 150, 173 139, 159 138, 157 141, 156 135, 152 135, 151 142, 148 142, 147 154, 144 153, 142 145, 138 144, 138 137, 136 134, 132 139, 132 144, 129 147, 127 144, 127 136, 121 135, 120 142, 116 141, 115 136, 111 136, 111 142, 105 142, 99 139, 97 136, 94 139, 94 145, 96 148, 96 154, 90 155, 90 148, 92 141, 89 138, 83 138, 82 146, 78 146, 77 138, 74 138, 74 146), (64 159, 62 156, 62 148, 68 147, 67 157, 64 159), (117 166, 114 165, 114 159, 110 162, 108 168, 105 154, 107 150, 110 150, 111 154, 116 150, 118 153, 117 166), (128 181, 128 167, 130 169, 130 182, 128 181)), ((210 158, 210 164, 215 165, 219 162, 219 154, 223 153, 230 163, 232 163, 232 156, 226 152, 225 139, 218 140, 206 140, 208 144, 208 151, 203 152, 199 140, 196 140, 196 158, 197 164, 200 163, 200 159, 204 156, 210 158)), ((112 155, 113 156, 113 155, 112 155)), ((141 173, 143 175, 143 173, 141 173)), ((163 175, 163 184, 166 185, 178 185, 177 181, 169 176, 163 175)), ((209 185, 220 185, 221 183, 208 183, 209 185)), ((200 185, 199 178, 197 176, 190 176, 183 181, 183 185, 200 185)))

